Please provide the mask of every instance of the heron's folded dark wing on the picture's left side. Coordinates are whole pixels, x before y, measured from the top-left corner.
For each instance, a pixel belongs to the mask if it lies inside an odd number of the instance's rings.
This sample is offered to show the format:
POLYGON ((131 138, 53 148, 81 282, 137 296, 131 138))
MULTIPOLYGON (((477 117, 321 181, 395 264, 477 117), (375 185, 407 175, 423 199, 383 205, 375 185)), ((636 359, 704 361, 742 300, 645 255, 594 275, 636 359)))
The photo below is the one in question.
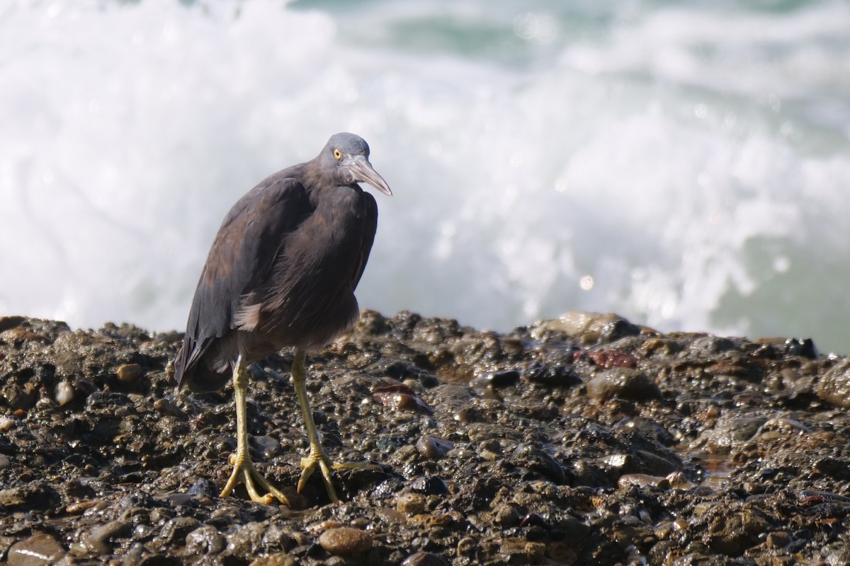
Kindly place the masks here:
POLYGON ((178 387, 213 342, 235 328, 246 294, 269 277, 286 234, 309 210, 301 183, 278 173, 246 193, 224 217, 201 271, 174 363, 178 387))

